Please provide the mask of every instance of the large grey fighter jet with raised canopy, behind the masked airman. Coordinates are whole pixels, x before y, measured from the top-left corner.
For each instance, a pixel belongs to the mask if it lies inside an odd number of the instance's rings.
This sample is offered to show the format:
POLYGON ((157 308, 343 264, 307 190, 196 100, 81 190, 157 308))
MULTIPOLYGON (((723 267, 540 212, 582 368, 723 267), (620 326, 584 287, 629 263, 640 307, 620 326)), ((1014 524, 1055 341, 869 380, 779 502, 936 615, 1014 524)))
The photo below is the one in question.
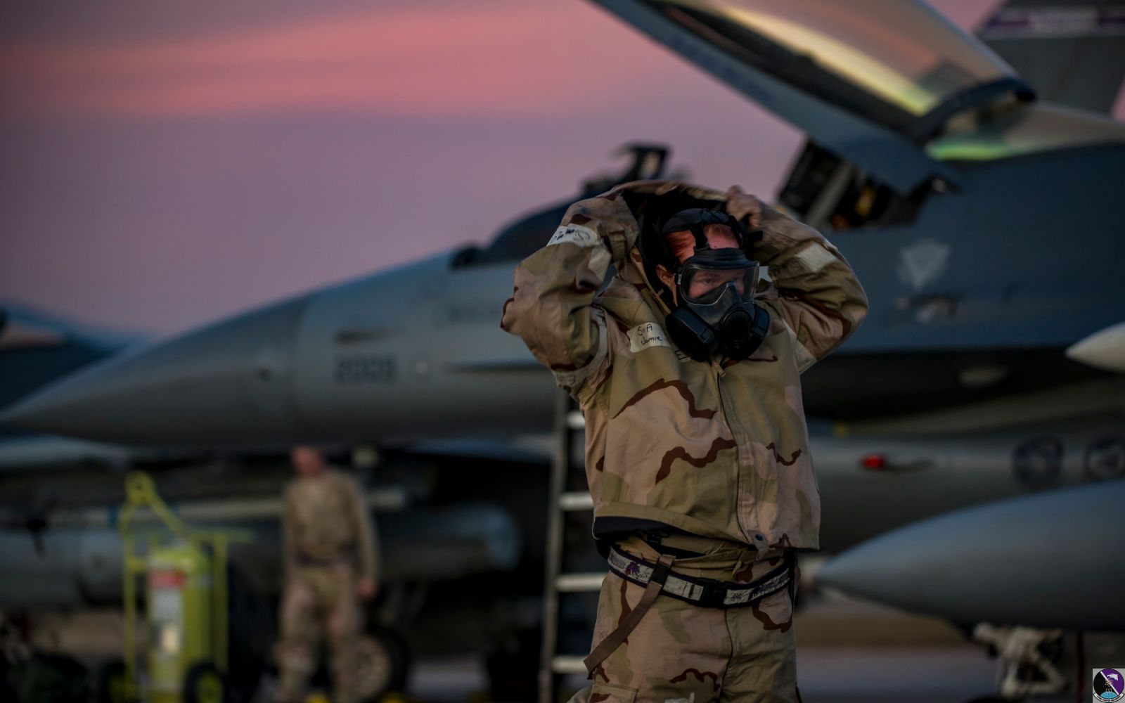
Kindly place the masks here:
MULTIPOLYGON (((777 200, 832 236, 874 301, 858 334, 807 375, 810 415, 901 417, 1106 387, 1108 375, 1063 352, 1122 322, 1125 126, 1036 101, 996 54, 921 3, 603 4, 808 133, 777 200)), ((560 209, 486 247, 114 360, 7 421, 140 444, 543 430, 550 382, 493 327, 512 263, 541 245, 560 209)))

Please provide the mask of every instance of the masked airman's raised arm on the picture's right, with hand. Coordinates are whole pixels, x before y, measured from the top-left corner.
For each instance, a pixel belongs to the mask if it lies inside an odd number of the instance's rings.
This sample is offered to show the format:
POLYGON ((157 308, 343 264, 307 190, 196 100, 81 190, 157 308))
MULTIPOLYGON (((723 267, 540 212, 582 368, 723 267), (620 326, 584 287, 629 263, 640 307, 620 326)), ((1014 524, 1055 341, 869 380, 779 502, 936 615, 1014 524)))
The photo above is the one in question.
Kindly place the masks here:
POLYGON ((840 345, 867 315, 867 296, 839 251, 812 227, 736 188, 727 210, 763 231, 755 254, 770 268, 785 324, 798 341, 803 372, 840 345))

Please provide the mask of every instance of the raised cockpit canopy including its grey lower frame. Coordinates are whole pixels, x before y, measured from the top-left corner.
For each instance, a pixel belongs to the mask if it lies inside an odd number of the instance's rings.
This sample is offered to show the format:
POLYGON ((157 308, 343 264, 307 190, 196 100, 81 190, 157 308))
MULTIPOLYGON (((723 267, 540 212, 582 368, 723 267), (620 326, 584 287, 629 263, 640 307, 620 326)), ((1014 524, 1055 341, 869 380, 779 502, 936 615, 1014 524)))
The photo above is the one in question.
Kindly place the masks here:
POLYGON ((1029 89, 915 0, 594 0, 900 195, 948 165, 921 146, 953 115, 1029 89))

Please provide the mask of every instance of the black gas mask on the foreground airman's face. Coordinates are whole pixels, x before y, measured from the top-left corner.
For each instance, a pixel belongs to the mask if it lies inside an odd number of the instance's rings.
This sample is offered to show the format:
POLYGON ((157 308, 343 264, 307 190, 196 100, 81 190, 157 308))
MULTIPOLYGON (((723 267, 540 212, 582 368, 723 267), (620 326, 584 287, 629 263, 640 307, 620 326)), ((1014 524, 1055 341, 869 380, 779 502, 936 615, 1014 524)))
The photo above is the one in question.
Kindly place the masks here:
POLYGON ((678 213, 663 227, 662 234, 688 231, 696 240, 696 253, 674 271, 678 305, 665 321, 668 335, 696 361, 716 354, 746 359, 770 331, 770 313, 753 301, 758 262, 742 247, 709 249, 709 224, 729 226, 740 244, 748 238, 732 217, 700 208, 678 213))

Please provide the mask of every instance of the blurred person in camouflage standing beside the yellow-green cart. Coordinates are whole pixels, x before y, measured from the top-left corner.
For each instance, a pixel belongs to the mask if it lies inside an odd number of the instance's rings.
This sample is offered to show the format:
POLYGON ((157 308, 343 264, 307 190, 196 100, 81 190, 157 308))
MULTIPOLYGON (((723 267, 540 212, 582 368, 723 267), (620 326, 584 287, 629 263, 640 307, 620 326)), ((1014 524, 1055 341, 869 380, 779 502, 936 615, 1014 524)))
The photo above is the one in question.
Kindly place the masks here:
POLYGON ((332 654, 333 700, 352 703, 363 631, 360 601, 377 589, 377 542, 370 512, 354 479, 327 468, 321 452, 291 453, 298 476, 285 490, 285 591, 277 647, 276 700, 304 700, 316 668, 321 632, 332 654))

